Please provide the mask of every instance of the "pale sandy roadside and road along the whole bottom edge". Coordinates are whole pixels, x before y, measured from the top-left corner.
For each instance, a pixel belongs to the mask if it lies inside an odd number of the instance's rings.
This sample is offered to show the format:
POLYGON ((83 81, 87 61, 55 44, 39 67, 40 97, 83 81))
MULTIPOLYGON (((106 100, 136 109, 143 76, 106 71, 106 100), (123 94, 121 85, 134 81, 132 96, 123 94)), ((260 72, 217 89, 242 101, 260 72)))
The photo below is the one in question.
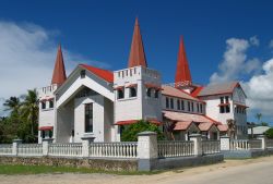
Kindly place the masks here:
POLYGON ((0 175, 0 184, 273 184, 273 157, 226 161, 154 175, 0 175))

